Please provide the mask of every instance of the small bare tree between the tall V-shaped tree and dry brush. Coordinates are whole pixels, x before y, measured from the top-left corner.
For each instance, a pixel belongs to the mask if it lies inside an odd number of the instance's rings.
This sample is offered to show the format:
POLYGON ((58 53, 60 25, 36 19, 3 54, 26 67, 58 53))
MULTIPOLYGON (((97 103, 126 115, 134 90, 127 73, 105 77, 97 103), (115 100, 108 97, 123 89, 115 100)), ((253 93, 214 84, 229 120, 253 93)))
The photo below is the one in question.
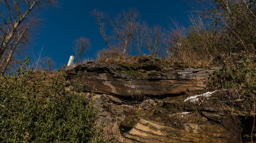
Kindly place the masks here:
POLYGON ((148 28, 145 34, 145 46, 154 58, 164 56, 164 50, 167 48, 167 36, 160 26, 148 28))

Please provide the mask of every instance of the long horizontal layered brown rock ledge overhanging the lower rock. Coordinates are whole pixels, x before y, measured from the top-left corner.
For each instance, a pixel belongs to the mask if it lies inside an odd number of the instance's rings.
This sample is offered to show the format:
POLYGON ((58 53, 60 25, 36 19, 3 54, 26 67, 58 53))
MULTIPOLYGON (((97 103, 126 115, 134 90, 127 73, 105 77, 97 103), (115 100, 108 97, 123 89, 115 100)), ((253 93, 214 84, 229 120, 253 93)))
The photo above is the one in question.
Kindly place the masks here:
POLYGON ((80 86, 83 91, 87 92, 94 90, 95 93, 126 98, 131 96, 159 97, 181 94, 187 90, 202 90, 208 74, 214 71, 163 68, 154 62, 144 63, 143 66, 137 67, 87 62, 69 70, 67 79, 72 86, 80 86), (142 69, 147 70, 143 75, 139 73, 142 69))

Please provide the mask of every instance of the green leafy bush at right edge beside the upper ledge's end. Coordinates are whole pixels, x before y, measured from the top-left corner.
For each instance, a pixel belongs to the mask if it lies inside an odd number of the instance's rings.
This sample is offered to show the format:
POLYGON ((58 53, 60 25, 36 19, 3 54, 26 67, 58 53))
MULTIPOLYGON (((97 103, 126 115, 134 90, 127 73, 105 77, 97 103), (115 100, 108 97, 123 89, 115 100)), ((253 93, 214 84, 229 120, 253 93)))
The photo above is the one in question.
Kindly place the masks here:
POLYGON ((234 100, 253 97, 256 93, 255 73, 254 52, 229 53, 223 55, 223 68, 210 77, 209 87, 237 93, 234 100))

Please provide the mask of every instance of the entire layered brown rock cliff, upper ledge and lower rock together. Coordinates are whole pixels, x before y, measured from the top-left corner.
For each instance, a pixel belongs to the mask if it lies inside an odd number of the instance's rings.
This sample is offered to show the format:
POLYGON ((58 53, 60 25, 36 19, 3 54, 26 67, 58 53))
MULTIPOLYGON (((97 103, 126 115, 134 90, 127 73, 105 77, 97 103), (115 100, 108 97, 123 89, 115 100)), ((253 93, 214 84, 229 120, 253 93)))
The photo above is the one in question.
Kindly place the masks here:
POLYGON ((67 71, 66 90, 95 93, 97 122, 106 125, 111 142, 242 142, 242 120, 253 116, 252 109, 214 100, 225 91, 185 100, 186 92, 204 89, 214 70, 147 58, 130 65, 93 61, 67 71))

